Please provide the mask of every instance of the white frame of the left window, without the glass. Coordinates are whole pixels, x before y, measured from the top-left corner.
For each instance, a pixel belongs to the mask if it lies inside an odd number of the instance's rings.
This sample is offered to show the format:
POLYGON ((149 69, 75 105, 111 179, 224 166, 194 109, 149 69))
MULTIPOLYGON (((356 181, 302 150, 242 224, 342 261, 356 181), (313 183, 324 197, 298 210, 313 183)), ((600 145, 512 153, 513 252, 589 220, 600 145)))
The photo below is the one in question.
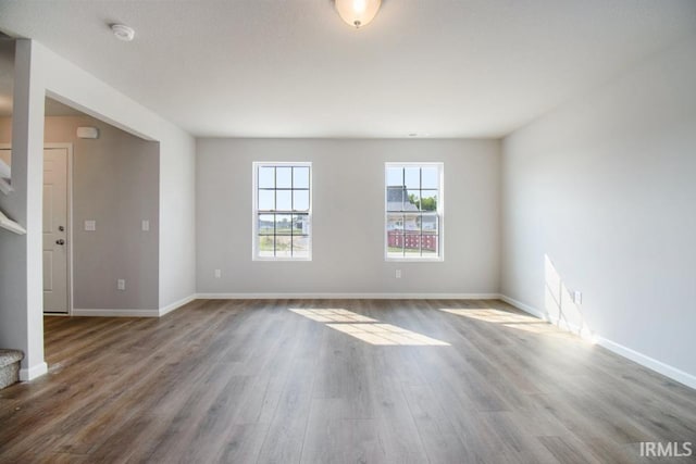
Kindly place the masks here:
MULTIPOLYGON (((308 161, 298 161, 298 162, 289 162, 289 161, 254 161, 252 163, 251 166, 251 178, 252 180, 252 188, 253 188, 253 192, 252 192, 252 204, 251 204, 251 214, 252 214, 252 218, 251 218, 251 227, 252 227, 252 231, 251 231, 251 249, 252 249, 252 254, 251 254, 251 259, 252 261, 271 261, 271 262, 276 262, 276 261, 312 261, 312 197, 313 197, 313 186, 312 186, 312 163, 308 162, 308 161), (274 214, 273 212, 269 213, 265 211, 260 211, 258 209, 259 206, 259 168, 260 167, 309 167, 309 210, 306 211, 301 211, 301 214, 307 214, 307 221, 308 221, 308 229, 309 229, 309 234, 307 237, 307 242, 308 242, 308 254, 307 256, 261 256, 259 254, 259 214, 274 214)), ((276 212, 275 214, 297 214, 300 213, 299 211, 285 211, 285 210, 273 210, 274 212, 276 212)))

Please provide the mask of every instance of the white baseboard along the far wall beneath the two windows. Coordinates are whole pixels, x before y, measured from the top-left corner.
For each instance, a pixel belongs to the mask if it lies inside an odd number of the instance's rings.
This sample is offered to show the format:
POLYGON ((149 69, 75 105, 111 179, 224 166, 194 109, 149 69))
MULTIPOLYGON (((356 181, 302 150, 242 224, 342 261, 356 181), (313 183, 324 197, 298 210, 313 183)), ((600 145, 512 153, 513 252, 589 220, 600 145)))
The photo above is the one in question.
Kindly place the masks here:
POLYGON ((199 300, 496 300, 498 293, 198 293, 199 300))

